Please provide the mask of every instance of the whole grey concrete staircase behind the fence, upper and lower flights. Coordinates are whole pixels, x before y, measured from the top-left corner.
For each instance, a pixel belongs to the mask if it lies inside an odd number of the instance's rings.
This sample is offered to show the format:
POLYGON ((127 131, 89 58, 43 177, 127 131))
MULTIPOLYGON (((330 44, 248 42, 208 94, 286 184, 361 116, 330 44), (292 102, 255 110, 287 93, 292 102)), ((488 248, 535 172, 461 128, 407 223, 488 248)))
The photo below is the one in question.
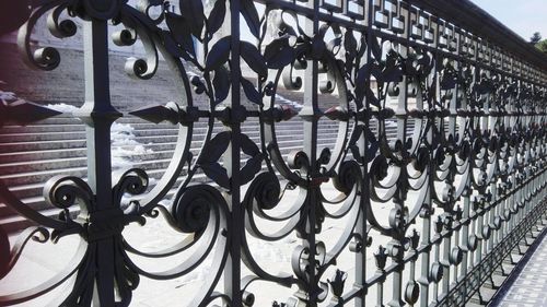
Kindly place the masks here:
MULTIPOLYGON (((51 72, 42 72, 26 68, 15 46, 0 44, 0 48, 5 55, 0 58, 0 80, 7 82, 2 90, 14 92, 20 98, 38 104, 81 106, 82 51, 59 50, 62 58, 60 67, 51 72)), ((117 120, 118 129, 114 129, 119 131, 113 135, 113 160, 117 168, 138 167, 147 170, 152 178, 152 187, 171 161, 178 129, 170 123, 154 125, 143 121, 128 116, 128 111, 146 105, 165 105, 168 101, 177 101, 176 88, 170 80, 172 73, 163 62, 153 79, 135 81, 125 75, 125 58, 124 55, 110 55, 112 101, 116 108, 125 114, 117 120)), ((281 94, 296 104, 302 102, 301 93, 283 91, 281 94)), ((243 92, 241 96, 245 97, 243 92)), ((281 101, 287 103, 286 99, 281 101)), ((321 101, 323 109, 338 103, 333 96, 322 96, 321 101)), ((201 109, 206 109, 207 103, 202 96, 194 97, 194 102, 201 109)), ((248 102, 243 104, 249 109, 255 107, 248 102)), ((243 125, 243 132, 259 144, 257 127, 256 119, 248 119, 243 125)), ((222 129, 222 125, 217 123, 214 131, 222 129)), ((195 155, 202 146, 206 130, 205 121, 196 123, 191 143, 195 155)), ((303 123, 299 117, 280 122, 276 132, 282 154, 302 149, 303 123)), ((327 119, 322 121, 318 132, 319 147, 333 147, 337 132, 337 122, 327 119)), ((391 126, 388 133, 394 137, 396 128, 391 126)), ((59 209, 48 206, 43 197, 44 182, 56 175, 80 178, 88 176, 85 127, 78 118, 62 115, 26 127, 7 126, 0 129, 0 179, 19 199, 44 214, 58 214, 59 209)), ((184 176, 185 174, 182 178, 184 176)), ((203 174, 197 174, 195 180, 207 181, 207 178, 203 174)), ((31 221, 0 203, 0 225, 5 231, 16 232, 31 224, 31 221)))

